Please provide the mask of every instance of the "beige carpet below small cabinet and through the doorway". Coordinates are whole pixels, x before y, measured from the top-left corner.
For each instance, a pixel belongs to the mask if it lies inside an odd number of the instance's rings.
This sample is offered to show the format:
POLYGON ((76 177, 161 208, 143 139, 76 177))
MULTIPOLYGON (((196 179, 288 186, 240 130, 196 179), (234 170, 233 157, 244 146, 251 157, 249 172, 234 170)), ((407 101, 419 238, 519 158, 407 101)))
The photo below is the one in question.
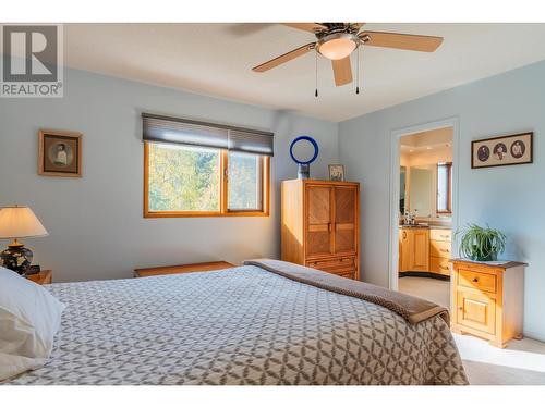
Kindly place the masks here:
MULTIPOLYGON (((405 276, 399 290, 450 309, 450 282, 405 276)), ((523 338, 501 349, 474 336, 453 336, 471 384, 545 385, 545 343, 523 338)))

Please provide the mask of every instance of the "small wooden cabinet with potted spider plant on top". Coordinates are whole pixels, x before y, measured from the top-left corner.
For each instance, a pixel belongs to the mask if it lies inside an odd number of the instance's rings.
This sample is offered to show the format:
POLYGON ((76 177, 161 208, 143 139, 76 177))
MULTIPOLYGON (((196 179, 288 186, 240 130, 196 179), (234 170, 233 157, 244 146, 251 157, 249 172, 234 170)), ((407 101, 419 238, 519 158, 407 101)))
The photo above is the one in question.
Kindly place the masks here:
POLYGON ((486 338, 497 347, 522 338, 525 265, 452 260, 452 331, 486 338))

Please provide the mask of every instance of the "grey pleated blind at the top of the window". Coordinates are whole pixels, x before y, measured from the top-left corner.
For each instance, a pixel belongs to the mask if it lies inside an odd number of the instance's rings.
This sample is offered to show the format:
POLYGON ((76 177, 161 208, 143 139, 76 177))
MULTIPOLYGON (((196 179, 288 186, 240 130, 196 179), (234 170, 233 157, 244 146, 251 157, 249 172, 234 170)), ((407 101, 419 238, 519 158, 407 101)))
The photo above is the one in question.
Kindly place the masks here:
POLYGON ((274 156, 274 134, 209 122, 142 114, 144 141, 211 147, 254 154, 274 156))

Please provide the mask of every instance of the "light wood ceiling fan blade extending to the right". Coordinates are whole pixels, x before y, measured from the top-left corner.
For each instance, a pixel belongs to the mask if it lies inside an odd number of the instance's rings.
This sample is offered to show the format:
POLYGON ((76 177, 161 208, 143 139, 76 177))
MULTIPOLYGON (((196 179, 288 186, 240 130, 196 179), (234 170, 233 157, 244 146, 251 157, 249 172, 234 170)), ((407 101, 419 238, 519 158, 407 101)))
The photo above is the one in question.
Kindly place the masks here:
POLYGON ((413 34, 362 32, 358 35, 366 46, 399 48, 401 50, 434 52, 443 42, 443 37, 417 36, 413 34))

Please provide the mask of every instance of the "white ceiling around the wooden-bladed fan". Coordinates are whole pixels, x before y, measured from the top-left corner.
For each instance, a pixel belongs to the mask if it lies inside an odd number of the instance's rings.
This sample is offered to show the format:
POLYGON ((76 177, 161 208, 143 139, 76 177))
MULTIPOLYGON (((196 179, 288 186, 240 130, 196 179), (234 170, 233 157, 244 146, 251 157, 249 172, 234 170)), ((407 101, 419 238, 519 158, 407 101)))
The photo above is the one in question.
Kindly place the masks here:
MULTIPOLYGON (((198 94, 342 121, 545 59, 545 24, 367 24, 438 35, 434 53, 367 47, 360 85, 334 85, 313 52, 266 73, 252 66, 313 40, 279 24, 66 24, 64 62, 198 94)), ((355 58, 352 58, 355 77, 355 58)))

